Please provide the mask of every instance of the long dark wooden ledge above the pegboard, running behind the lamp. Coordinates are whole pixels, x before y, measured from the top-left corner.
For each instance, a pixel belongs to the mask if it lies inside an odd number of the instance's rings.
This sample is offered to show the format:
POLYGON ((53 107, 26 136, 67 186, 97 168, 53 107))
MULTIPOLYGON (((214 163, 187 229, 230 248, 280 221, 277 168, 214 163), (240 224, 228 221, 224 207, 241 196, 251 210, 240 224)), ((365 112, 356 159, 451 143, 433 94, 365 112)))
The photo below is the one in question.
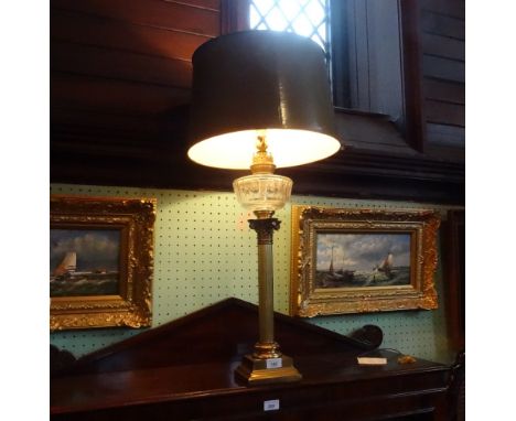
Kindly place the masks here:
MULTIPOLYGON (((69 137, 67 140, 69 141, 69 137)), ((73 139, 73 138, 72 138, 73 139)), ((75 184, 130 185, 162 188, 232 191, 232 183, 245 171, 208 169, 185 159, 185 152, 149 144, 117 156, 90 148, 90 153, 54 154, 51 177, 75 184), (55 164, 54 164, 55 162, 55 164)), ((116 152, 116 145, 110 149, 116 152)), ((384 198, 420 203, 464 203, 464 169, 461 164, 417 161, 388 154, 358 153, 353 150, 321 164, 278 171, 294 180, 293 194, 327 197, 384 198)))

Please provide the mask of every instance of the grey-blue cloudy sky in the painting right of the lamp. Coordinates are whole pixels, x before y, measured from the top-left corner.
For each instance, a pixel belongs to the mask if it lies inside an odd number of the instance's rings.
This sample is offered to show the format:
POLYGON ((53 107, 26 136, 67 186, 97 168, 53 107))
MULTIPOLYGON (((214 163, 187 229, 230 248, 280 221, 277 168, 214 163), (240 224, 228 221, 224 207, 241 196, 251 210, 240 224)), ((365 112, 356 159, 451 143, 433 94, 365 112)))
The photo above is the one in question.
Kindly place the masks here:
POLYGON ((318 234, 318 270, 373 270, 389 252, 394 266, 410 265, 408 234, 318 234))

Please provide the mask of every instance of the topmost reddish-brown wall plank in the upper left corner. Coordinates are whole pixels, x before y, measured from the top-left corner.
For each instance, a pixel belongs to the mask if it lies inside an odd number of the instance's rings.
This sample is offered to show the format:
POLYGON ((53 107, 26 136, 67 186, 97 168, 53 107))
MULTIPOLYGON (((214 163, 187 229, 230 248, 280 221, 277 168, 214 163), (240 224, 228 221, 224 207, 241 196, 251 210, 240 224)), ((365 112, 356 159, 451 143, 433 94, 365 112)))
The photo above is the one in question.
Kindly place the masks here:
POLYGON ((149 0, 52 0, 51 8, 110 18, 136 25, 148 25, 216 36, 217 10, 191 7, 185 2, 149 0))

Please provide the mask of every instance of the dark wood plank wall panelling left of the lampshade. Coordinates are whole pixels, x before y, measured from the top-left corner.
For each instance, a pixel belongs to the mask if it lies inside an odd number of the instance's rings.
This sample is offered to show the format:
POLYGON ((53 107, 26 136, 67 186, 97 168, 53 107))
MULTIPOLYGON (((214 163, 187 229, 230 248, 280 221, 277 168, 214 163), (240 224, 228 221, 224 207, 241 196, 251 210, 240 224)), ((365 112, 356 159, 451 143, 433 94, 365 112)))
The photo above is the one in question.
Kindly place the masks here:
POLYGON ((190 102, 193 52, 219 32, 218 4, 51 2, 51 180, 171 183, 185 160, 175 108, 190 102))

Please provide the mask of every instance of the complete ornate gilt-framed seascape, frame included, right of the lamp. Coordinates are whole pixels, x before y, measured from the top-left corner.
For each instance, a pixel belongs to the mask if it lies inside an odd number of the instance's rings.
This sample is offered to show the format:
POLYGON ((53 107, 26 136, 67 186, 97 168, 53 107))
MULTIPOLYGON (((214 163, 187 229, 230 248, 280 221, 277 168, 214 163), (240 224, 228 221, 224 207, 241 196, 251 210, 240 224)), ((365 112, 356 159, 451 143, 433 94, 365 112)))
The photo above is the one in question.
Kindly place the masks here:
POLYGON ((439 214, 292 206, 290 313, 437 309, 439 214))

